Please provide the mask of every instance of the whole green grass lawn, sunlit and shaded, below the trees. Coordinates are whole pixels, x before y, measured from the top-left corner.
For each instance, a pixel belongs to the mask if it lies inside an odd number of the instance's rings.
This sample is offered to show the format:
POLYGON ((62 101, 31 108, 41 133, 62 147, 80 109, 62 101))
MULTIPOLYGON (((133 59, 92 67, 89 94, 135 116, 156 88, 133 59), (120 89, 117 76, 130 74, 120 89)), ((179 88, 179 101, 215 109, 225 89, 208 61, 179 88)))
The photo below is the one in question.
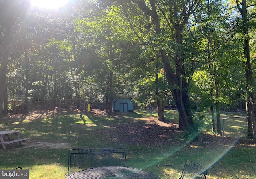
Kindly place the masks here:
POLYGON ((162 179, 178 178, 186 160, 208 167, 208 179, 256 178, 256 148, 246 140, 242 114, 222 114, 224 135, 212 134, 211 126, 206 126, 202 143, 184 140, 177 128, 177 111, 166 110, 164 115, 167 124, 156 121, 156 110, 112 116, 76 111, 8 116, 0 121, 0 130, 21 130, 20 137, 30 140, 22 146, 9 144, 7 150, 0 146, 0 169, 20 166, 30 170, 30 179, 64 179, 69 149, 121 147, 126 149, 129 167, 162 179))

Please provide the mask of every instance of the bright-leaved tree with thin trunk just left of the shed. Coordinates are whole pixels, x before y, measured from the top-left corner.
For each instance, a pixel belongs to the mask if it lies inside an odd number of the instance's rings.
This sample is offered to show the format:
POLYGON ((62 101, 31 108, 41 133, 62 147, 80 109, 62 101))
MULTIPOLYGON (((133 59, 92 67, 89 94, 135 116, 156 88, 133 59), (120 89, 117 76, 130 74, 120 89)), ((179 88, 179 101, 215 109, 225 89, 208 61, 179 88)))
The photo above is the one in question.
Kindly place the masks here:
POLYGON ((78 22, 82 24, 80 32, 84 37, 83 51, 92 54, 90 60, 102 64, 98 66, 98 83, 102 84, 102 91, 105 94, 106 112, 111 114, 112 100, 124 97, 120 74, 130 68, 129 59, 132 55, 129 51, 133 37, 128 33, 126 23, 120 20, 123 15, 119 7, 111 9, 104 4, 96 3, 93 9, 94 12, 85 12, 85 18, 78 22))

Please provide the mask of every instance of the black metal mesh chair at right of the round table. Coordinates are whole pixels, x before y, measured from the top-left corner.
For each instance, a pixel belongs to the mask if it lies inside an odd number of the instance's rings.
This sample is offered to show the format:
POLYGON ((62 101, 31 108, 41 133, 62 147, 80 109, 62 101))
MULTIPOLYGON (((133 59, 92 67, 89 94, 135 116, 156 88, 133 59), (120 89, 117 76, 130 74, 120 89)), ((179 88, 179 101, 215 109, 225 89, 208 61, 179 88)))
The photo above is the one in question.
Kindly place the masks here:
POLYGON ((206 179, 207 169, 194 161, 186 161, 179 179, 206 179))

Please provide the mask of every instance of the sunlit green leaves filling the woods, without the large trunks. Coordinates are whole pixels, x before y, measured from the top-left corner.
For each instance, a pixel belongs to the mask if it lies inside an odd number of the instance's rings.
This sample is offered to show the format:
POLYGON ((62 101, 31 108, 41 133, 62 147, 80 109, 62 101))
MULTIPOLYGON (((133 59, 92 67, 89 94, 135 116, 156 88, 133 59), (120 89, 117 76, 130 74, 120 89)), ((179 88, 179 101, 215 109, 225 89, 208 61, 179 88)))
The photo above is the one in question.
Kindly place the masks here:
MULTIPOLYGON (((166 85, 166 69, 159 53, 165 50, 174 73, 178 70, 176 55, 184 60, 180 77, 189 84, 192 107, 201 111, 216 104, 238 107, 244 104, 246 90, 255 91, 254 80, 252 87, 245 88, 241 44, 246 36, 237 33, 243 26, 250 29, 252 69, 256 69, 254 7, 248 8, 246 21, 238 21, 228 13, 226 2, 201 2, 182 28, 182 43, 177 43, 174 26, 182 13, 174 13, 180 12, 184 4, 179 0, 157 1, 161 33, 156 33, 152 18, 139 5, 136 1, 82 0, 72 1, 56 12, 24 11, 22 15, 28 18, 17 19, 20 24, 13 29, 8 89, 22 98, 28 92, 34 100, 77 97, 105 102, 111 95, 132 98, 142 108, 156 100, 168 104, 173 102, 170 90, 182 88, 166 85), (211 94, 215 82, 218 98, 211 94)), ((144 8, 150 10, 150 3, 144 8)), ((3 43, 4 26, 0 27, 3 43)))

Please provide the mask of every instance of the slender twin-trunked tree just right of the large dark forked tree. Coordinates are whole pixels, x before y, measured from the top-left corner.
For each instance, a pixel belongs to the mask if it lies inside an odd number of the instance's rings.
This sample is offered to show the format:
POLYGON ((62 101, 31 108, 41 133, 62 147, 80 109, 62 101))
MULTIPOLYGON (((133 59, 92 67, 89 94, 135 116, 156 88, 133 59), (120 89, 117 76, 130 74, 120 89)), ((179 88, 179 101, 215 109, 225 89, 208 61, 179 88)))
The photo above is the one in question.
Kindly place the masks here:
POLYGON ((205 38, 207 40, 207 51, 208 51, 208 67, 210 77, 212 77, 210 81, 210 95, 214 98, 215 92, 215 104, 211 105, 211 114, 212 114, 212 129, 213 132, 215 130, 215 120, 214 120, 214 110, 216 109, 216 121, 217 121, 217 133, 222 134, 221 131, 221 122, 220 122, 220 105, 221 105, 221 97, 220 97, 220 81, 221 80, 221 68, 218 67, 220 64, 222 56, 222 50, 220 47, 224 45, 225 41, 227 41, 229 36, 226 37, 224 35, 224 31, 226 32, 226 22, 228 20, 228 16, 226 16, 225 12, 227 12, 222 1, 210 1, 204 3, 206 6, 207 16, 204 17, 203 22, 201 22, 202 31, 204 31, 205 38), (219 75, 218 75, 219 74, 219 75), (214 92, 213 92, 214 91, 214 92))

